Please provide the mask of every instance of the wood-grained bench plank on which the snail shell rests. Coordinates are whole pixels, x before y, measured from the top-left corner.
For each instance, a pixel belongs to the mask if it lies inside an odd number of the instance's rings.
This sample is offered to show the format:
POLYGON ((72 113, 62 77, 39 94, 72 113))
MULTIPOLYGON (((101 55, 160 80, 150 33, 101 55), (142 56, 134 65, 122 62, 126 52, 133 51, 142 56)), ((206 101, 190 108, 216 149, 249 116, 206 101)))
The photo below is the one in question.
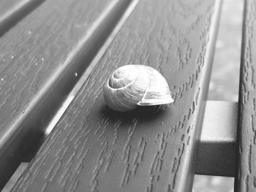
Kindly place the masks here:
POLYGON ((12 191, 190 191, 220 1, 141 0, 12 191), (102 86, 144 64, 175 102, 114 112, 102 86))

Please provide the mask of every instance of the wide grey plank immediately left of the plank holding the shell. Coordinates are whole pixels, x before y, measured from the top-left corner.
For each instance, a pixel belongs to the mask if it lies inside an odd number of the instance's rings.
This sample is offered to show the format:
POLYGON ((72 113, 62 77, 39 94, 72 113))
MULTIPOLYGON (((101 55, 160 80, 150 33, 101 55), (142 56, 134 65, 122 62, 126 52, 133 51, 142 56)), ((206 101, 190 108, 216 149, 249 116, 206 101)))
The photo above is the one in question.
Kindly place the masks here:
POLYGON ((0 38, 0 188, 37 150, 43 129, 129 2, 44 1, 0 38))

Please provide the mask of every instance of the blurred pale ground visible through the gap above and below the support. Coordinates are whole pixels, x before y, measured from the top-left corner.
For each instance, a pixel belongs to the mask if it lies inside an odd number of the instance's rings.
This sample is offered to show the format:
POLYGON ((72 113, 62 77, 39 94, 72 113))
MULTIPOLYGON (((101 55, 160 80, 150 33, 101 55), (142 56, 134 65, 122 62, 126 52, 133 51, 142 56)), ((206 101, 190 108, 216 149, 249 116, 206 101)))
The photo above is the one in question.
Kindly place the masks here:
MULTIPOLYGON (((223 0, 208 100, 238 101, 243 0, 223 0)), ((192 192, 231 192, 233 177, 195 175, 192 192)))

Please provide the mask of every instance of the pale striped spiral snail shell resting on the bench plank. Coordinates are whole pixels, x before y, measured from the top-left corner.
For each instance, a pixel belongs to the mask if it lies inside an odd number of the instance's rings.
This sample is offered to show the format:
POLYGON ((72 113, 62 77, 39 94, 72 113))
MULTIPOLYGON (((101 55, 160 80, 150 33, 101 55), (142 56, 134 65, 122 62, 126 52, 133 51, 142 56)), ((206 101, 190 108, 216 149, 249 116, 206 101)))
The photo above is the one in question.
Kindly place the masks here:
POLYGON ((126 65, 116 69, 106 82, 103 94, 108 107, 121 112, 133 110, 138 105, 173 102, 165 77, 144 65, 126 65))

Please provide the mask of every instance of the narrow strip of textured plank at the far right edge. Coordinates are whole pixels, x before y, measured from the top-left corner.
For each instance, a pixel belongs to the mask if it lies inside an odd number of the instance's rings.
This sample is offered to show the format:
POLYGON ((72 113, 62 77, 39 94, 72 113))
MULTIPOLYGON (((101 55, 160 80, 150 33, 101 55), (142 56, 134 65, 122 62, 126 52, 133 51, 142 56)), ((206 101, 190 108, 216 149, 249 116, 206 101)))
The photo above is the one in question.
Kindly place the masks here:
POLYGON ((241 53, 235 191, 256 191, 256 1, 246 0, 241 53))

